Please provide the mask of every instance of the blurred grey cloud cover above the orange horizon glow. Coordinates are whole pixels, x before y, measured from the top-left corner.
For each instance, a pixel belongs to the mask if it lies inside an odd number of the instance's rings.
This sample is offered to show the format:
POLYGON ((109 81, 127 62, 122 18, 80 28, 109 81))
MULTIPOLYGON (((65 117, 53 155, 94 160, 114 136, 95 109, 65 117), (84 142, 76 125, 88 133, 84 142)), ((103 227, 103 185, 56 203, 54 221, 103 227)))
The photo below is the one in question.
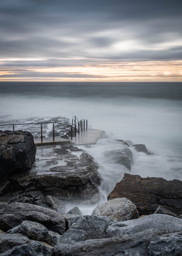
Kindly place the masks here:
POLYGON ((181 60, 181 9, 178 0, 1 0, 0 66, 181 60))

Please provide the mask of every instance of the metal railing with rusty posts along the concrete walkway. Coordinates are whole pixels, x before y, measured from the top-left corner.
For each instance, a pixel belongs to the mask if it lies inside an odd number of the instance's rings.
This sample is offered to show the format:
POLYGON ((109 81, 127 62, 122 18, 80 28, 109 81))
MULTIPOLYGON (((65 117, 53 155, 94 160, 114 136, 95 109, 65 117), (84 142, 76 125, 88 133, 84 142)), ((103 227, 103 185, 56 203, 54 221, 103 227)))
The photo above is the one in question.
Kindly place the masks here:
MULTIPOLYGON (((0 126, 12 126, 13 127, 13 131, 15 131, 15 125, 25 125, 25 124, 41 124, 41 143, 43 143, 43 129, 42 129, 42 124, 53 124, 53 142, 55 141, 55 132, 54 132, 54 123, 57 124, 63 124, 63 125, 67 125, 71 127, 71 141, 73 140, 73 128, 74 128, 74 132, 75 132, 75 137, 76 137, 76 124, 78 124, 78 134, 80 134, 80 129, 81 132, 83 132, 83 130, 85 131, 85 119, 81 119, 80 121, 78 121, 76 116, 75 117, 75 122, 73 124, 73 118, 72 118, 72 124, 65 124, 65 123, 60 123, 60 122, 41 122, 41 123, 21 123, 21 124, 0 124, 0 126), (78 122, 76 122, 76 119, 78 122), (82 121, 83 120, 83 121, 82 121)), ((86 120, 86 130, 87 130, 87 120, 86 120)))

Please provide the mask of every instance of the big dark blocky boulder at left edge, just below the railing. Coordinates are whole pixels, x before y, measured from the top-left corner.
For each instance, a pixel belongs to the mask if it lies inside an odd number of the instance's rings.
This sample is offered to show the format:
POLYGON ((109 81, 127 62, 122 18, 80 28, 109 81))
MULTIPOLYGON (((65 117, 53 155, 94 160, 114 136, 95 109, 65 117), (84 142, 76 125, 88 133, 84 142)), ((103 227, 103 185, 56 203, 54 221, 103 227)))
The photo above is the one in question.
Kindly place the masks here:
POLYGON ((0 131, 0 179, 14 170, 29 170, 35 162, 33 136, 26 131, 0 131))

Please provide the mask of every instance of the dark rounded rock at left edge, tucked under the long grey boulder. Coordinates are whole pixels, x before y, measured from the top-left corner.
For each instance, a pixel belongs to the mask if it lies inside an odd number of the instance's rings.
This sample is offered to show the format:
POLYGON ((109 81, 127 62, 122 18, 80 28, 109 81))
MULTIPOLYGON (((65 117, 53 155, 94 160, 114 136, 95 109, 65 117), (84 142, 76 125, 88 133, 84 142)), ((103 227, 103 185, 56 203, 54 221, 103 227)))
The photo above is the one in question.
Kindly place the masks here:
MULTIPOLYGON (((6 208, 2 208, 4 210, 6 208)), ((0 215, 0 229, 7 232, 9 229, 16 227, 21 224, 19 217, 13 214, 2 214, 0 215)))

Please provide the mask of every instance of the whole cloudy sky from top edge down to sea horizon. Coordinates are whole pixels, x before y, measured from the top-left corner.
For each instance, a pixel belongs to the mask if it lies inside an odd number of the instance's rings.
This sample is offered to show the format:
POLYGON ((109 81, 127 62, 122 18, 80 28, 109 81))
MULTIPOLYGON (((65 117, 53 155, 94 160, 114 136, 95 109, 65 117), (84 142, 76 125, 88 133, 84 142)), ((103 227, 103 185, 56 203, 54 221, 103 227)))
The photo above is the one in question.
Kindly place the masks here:
POLYGON ((181 0, 0 0, 0 81, 182 81, 181 0))

